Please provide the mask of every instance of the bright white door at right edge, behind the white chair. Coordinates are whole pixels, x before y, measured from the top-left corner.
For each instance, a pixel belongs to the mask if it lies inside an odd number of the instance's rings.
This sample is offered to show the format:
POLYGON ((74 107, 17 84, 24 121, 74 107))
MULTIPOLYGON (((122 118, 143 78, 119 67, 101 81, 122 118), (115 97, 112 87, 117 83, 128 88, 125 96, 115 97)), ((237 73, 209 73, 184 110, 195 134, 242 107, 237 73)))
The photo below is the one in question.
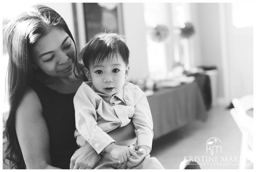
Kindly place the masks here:
POLYGON ((223 64, 227 80, 224 86, 226 101, 230 101, 232 98, 253 94, 253 27, 237 27, 232 22, 235 16, 232 15, 233 12, 237 12, 241 19, 250 21, 248 16, 253 16, 253 7, 251 4, 239 4, 238 11, 232 9, 231 3, 222 3, 220 7, 224 20, 222 32, 225 39, 222 39, 222 43, 226 47, 222 55, 226 61, 223 64))

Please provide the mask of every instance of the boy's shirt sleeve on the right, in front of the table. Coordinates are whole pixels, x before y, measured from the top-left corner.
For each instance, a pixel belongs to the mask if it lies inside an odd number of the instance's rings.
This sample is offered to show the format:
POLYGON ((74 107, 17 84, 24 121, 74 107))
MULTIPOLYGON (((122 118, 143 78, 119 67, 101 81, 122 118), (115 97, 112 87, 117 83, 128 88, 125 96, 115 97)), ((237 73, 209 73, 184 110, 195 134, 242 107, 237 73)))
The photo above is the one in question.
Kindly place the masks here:
POLYGON ((152 147, 153 140, 153 120, 148 104, 148 99, 145 93, 135 86, 134 91, 135 112, 132 117, 132 122, 135 127, 135 134, 138 139, 138 146, 145 145, 152 147))

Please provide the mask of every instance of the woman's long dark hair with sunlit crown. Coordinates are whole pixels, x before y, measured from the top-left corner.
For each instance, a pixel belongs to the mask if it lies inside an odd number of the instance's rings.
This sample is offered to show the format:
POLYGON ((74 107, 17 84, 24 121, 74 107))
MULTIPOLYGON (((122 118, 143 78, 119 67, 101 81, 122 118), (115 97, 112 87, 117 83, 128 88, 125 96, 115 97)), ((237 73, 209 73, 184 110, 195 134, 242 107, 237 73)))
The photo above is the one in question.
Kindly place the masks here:
MULTIPOLYGON (((9 55, 6 82, 10 106, 3 132, 3 138, 6 139, 4 163, 11 169, 26 168, 15 130, 15 113, 26 88, 34 77, 35 71, 31 66, 30 51, 33 44, 53 28, 67 32, 75 43, 63 18, 52 8, 44 5, 32 6, 30 10, 21 13, 4 25, 3 39, 9 55)), ((77 59, 74 73, 77 78, 82 77, 77 59)))

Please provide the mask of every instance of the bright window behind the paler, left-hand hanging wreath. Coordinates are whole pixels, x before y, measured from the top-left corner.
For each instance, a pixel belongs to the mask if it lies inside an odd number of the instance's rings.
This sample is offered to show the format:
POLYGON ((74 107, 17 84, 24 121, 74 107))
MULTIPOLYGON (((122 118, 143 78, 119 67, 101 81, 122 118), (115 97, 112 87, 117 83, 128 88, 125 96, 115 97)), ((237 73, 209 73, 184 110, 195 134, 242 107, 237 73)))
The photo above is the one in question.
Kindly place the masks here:
POLYGON ((153 79, 163 79, 168 71, 168 65, 172 59, 172 53, 168 51, 170 44, 171 16, 169 15, 169 3, 144 3, 144 19, 146 25, 146 41, 148 54, 149 75, 153 79), (164 25, 169 29, 169 36, 161 41, 155 42, 152 39, 153 29, 157 25, 164 25))

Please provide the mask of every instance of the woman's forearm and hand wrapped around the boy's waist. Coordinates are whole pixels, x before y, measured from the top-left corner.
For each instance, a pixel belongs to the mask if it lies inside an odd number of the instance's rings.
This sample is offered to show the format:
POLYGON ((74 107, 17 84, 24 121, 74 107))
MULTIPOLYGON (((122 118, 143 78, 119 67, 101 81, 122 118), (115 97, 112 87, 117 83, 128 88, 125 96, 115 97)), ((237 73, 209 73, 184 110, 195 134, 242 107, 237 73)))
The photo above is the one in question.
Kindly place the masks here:
MULTIPOLYGON (((116 145, 129 146, 136 142, 134 129, 134 125, 130 122, 124 127, 108 132, 108 135, 116 141, 116 145)), ((76 150, 71 157, 70 169, 93 169, 100 158, 100 155, 87 143, 76 150)))

